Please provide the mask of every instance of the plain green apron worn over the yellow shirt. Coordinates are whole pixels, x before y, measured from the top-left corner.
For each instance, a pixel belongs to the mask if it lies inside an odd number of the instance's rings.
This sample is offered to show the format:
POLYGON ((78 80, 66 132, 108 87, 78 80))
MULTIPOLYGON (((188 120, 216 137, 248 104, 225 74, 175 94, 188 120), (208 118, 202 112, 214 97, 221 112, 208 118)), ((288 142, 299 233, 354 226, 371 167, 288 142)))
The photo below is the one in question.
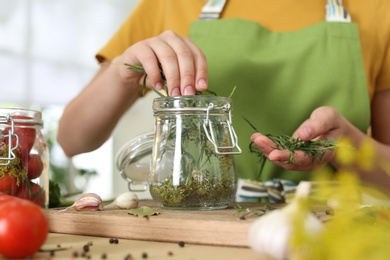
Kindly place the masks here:
POLYGON ((293 182, 308 172, 287 171, 269 161, 259 176, 250 153, 253 128, 263 134, 293 132, 320 106, 334 107, 362 131, 370 102, 358 25, 320 22, 298 31, 272 32, 242 19, 196 21, 190 38, 208 60, 209 90, 232 96, 233 127, 243 152, 235 157, 239 178, 293 182))

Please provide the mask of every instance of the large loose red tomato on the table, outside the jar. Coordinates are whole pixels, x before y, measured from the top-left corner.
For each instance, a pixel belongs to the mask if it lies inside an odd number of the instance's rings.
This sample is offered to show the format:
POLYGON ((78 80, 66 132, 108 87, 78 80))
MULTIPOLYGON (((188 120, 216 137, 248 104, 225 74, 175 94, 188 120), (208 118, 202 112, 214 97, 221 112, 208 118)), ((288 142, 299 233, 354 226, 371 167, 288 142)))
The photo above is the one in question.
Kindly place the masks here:
POLYGON ((0 255, 27 258, 43 245, 49 232, 44 211, 36 204, 15 198, 0 204, 0 255))

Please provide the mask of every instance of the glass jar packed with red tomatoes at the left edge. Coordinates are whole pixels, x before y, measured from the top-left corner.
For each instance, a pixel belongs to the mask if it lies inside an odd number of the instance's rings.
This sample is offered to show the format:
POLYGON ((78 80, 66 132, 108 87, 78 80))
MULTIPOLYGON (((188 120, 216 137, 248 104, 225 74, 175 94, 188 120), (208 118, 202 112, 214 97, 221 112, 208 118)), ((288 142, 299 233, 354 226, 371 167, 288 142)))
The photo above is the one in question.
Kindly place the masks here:
POLYGON ((41 112, 0 108, 0 192, 44 208, 49 203, 49 151, 41 112))

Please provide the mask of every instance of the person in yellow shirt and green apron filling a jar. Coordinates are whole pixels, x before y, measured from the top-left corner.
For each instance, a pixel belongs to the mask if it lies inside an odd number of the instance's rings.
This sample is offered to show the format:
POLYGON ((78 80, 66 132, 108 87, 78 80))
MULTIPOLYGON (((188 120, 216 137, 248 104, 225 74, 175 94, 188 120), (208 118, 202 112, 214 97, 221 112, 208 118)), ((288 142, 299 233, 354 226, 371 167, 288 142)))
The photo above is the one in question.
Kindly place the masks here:
MULTIPOLYGON (((141 63, 148 85, 162 89, 161 63, 171 96, 206 89, 228 96, 236 86, 240 146, 252 140, 273 162, 259 177, 258 159, 243 149, 242 179, 298 182, 336 166, 332 152, 321 160, 295 152, 285 163, 289 153, 274 149, 267 133, 348 136, 357 146, 370 138, 390 160, 389 8, 385 0, 142 0, 97 54, 101 69, 65 109, 58 141, 69 156, 99 147, 141 95, 144 75, 123 63, 141 63), (252 135, 244 118, 263 134, 252 135)), ((390 190, 381 170, 360 177, 390 190)))

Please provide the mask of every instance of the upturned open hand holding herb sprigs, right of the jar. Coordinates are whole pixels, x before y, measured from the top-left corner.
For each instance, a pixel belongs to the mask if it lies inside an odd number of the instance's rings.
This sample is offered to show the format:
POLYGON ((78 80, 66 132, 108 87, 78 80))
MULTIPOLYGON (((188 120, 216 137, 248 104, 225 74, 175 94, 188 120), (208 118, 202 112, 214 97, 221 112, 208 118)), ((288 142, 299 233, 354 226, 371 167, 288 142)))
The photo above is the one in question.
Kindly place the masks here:
MULTIPOLYGON (((304 141, 337 140, 344 131, 347 120, 331 107, 320 107, 314 110, 308 120, 303 122, 295 131, 293 137, 304 141)), ((312 158, 303 151, 294 151, 294 162, 286 163, 290 158, 289 151, 275 149, 276 145, 267 136, 255 133, 251 140, 276 165, 287 170, 309 171, 320 168, 334 156, 333 151, 326 151, 321 158, 312 158)))

